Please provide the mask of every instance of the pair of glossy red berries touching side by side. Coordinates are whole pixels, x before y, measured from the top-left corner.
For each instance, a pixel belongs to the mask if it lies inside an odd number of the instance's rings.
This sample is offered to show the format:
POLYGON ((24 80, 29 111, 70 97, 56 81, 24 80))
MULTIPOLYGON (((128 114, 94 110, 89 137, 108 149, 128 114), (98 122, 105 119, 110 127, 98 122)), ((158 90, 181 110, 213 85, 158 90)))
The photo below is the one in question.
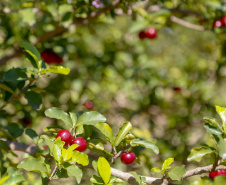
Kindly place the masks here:
POLYGON ((79 152, 83 152, 87 149, 86 140, 83 137, 76 137, 74 139, 68 130, 65 130, 65 129, 60 130, 56 135, 56 138, 58 138, 58 137, 61 138, 61 141, 65 142, 64 146, 77 144, 79 146, 75 150, 77 150, 79 152))

